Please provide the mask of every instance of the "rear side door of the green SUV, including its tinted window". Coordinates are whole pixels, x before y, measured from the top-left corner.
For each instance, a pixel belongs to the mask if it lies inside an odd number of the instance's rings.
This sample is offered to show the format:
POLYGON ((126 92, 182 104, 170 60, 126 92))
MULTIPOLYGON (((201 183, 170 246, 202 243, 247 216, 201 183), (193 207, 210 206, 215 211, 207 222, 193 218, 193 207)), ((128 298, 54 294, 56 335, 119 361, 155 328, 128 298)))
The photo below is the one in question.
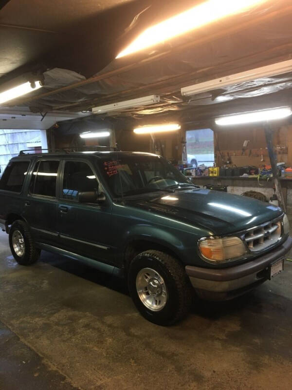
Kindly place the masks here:
POLYGON ((60 160, 37 160, 30 172, 30 184, 23 216, 36 242, 58 246, 56 182, 60 160))

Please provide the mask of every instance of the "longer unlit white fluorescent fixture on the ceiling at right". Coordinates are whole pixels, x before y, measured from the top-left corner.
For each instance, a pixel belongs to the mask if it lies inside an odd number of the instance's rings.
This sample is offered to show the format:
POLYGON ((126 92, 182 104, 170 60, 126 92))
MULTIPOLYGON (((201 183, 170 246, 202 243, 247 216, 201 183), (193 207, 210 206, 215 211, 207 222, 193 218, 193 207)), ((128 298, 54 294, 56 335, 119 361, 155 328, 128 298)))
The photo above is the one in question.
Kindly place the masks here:
POLYGON ((228 87, 240 82, 256 80, 257 78, 265 78, 270 76, 281 75, 292 71, 292 59, 287 61, 277 62, 272 65, 262 66, 260 68, 251 69, 246 72, 236 73, 230 76, 224 76, 221 78, 215 78, 201 82, 199 84, 190 85, 188 87, 181 88, 183 96, 192 96, 201 94, 203 92, 212 91, 223 87, 228 87))

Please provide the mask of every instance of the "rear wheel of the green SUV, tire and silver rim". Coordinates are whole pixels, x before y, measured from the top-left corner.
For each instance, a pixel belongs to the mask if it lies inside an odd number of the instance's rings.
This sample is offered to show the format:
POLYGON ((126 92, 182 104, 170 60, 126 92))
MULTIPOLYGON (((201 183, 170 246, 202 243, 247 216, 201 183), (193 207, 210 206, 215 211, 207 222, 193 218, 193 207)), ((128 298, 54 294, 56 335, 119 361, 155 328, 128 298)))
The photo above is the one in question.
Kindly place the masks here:
POLYGON ((35 246, 28 225, 21 219, 13 222, 10 228, 9 245, 13 257, 20 265, 35 263, 41 252, 35 246))

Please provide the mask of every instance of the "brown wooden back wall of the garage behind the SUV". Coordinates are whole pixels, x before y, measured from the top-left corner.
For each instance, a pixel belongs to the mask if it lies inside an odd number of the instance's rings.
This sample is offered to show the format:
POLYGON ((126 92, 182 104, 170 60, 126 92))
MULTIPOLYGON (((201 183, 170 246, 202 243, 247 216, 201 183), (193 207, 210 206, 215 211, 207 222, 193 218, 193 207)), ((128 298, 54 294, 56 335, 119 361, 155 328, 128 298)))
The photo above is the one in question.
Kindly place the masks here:
MULTIPOLYGON (((121 150, 154 152, 153 142, 149 135, 136 135, 132 130, 116 130, 116 142, 121 150)), ((160 138, 164 156, 170 160, 181 160, 181 149, 183 131, 170 134, 157 135, 160 138)), ((55 145, 51 147, 72 147, 84 142, 80 140, 77 134, 59 134, 58 129, 54 131, 55 145)), ((92 140, 91 144, 98 145, 97 140, 92 140)), ((101 143, 102 144, 102 143, 101 143)), ((277 146, 277 159, 284 161, 288 166, 292 166, 292 126, 283 126, 274 132, 274 145, 277 146)), ((237 166, 261 164, 270 165, 268 150, 266 149, 266 139, 262 127, 254 128, 235 128, 220 130, 215 132, 214 148, 216 154, 216 163, 223 165, 228 157, 232 164, 237 166), (245 140, 249 140, 246 151, 242 153, 242 146, 245 140), (263 155, 263 161, 261 161, 263 155)))

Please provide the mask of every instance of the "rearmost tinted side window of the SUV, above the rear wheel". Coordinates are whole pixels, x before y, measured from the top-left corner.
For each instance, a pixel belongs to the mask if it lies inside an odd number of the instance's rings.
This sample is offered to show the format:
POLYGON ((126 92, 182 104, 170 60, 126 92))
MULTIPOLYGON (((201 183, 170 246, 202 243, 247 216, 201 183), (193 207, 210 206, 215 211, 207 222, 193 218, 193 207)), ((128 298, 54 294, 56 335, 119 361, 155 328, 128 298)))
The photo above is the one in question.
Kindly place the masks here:
POLYGON ((0 180, 0 190, 21 192, 29 161, 10 162, 0 180))

